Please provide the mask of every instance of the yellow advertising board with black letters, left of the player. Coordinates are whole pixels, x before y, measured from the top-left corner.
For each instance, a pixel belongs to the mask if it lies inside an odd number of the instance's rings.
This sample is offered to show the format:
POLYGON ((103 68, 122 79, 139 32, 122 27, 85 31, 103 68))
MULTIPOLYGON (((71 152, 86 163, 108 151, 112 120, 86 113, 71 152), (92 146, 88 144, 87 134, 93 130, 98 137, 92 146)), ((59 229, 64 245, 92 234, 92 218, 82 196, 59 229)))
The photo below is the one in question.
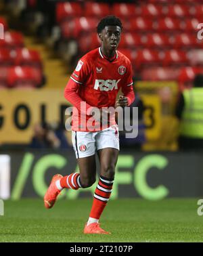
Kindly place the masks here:
POLYGON ((64 105, 63 89, 1 90, 0 144, 29 143, 35 123, 60 122, 64 105))

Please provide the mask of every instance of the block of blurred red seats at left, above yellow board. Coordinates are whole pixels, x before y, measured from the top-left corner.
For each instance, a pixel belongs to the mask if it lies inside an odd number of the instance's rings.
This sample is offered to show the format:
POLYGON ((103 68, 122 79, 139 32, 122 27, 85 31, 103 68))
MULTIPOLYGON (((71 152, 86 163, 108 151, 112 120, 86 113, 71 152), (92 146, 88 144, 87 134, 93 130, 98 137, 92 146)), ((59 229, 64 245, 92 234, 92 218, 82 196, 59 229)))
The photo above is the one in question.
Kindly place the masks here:
POLYGON ((26 48, 24 35, 9 30, 5 18, 4 39, 0 40, 0 88, 37 88, 45 81, 43 64, 38 51, 26 48))

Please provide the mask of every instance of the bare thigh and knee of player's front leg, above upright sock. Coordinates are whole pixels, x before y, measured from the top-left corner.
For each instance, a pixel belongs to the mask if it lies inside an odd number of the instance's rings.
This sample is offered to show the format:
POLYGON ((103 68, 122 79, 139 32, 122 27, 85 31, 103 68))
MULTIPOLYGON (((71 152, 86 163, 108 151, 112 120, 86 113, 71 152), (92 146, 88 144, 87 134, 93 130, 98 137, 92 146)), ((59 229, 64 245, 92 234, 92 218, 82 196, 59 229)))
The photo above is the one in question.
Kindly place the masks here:
POLYGON ((99 156, 101 176, 114 179, 119 150, 116 148, 102 148, 98 150, 97 153, 99 156))

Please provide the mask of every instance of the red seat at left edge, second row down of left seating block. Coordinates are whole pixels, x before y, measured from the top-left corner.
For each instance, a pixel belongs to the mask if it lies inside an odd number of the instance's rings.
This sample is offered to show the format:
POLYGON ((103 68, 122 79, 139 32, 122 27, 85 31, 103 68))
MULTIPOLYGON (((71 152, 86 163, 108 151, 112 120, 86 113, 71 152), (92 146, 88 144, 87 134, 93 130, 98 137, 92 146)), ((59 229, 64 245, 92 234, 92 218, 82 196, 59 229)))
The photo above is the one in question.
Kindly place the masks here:
POLYGON ((0 40, 0 48, 17 49, 24 47, 24 38, 19 32, 5 32, 4 40, 0 40))

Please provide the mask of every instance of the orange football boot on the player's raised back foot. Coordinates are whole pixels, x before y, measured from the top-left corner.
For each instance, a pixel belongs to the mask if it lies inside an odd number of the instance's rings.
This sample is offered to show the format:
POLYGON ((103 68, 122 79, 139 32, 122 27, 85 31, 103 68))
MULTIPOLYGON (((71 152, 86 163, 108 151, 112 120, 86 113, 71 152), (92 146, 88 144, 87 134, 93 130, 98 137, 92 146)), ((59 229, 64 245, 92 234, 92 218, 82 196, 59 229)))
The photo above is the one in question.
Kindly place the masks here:
POLYGON ((60 175, 60 174, 55 174, 53 176, 53 178, 51 179, 51 183, 49 185, 49 188, 47 189, 47 192, 44 196, 44 202, 45 202, 45 207, 47 209, 53 207, 55 201, 56 201, 56 198, 58 196, 58 194, 60 194, 60 190, 58 190, 58 188, 55 186, 55 182, 58 180, 58 179, 61 179, 63 176, 60 175))

